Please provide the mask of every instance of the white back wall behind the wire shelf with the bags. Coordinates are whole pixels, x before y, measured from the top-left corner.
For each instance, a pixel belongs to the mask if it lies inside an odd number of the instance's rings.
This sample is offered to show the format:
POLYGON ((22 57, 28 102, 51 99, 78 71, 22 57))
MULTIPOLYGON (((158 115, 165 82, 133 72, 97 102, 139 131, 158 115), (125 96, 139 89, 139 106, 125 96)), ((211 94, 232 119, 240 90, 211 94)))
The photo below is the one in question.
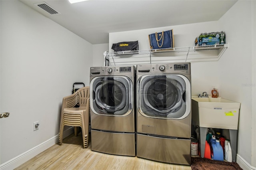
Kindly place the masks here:
MULTIPOLYGON (((174 47, 190 47, 194 46, 195 38, 202 32, 214 32, 222 31, 218 28, 218 22, 203 22, 196 24, 186 24, 179 26, 169 26, 162 28, 151 28, 144 30, 134 30, 126 32, 115 32, 109 34, 109 50, 111 49, 113 43, 126 42, 126 41, 136 41, 139 42, 139 49, 150 49, 148 42, 148 34, 154 32, 162 32, 166 30, 173 29, 174 32, 174 47)), ((216 55, 218 51, 200 51, 200 52, 190 52, 188 54, 188 61, 193 57, 205 57, 216 55)), ((161 63, 161 62, 185 62, 186 61, 186 52, 183 53, 161 53, 152 57, 152 63, 161 63)), ((114 57, 116 64, 143 64, 150 63, 149 55, 128 55, 114 57)), ((110 59, 112 62, 112 59, 110 59)), ((113 63, 112 63, 113 64, 113 63)), ((192 95, 202 94, 203 91, 206 91, 208 94, 211 94, 212 88, 219 88, 218 74, 217 70, 217 61, 212 62, 192 62, 191 63, 191 78, 192 78, 192 95)))

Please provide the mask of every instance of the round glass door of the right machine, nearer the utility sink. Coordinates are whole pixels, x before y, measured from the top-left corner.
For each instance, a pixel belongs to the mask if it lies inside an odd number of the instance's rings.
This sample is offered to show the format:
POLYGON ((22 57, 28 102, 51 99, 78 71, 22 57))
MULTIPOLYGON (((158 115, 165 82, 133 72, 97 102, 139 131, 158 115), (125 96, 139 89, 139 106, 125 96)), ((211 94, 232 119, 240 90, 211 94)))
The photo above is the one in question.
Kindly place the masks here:
POLYGON ((138 111, 142 115, 183 119, 190 113, 190 81, 184 75, 144 75, 137 85, 138 111))

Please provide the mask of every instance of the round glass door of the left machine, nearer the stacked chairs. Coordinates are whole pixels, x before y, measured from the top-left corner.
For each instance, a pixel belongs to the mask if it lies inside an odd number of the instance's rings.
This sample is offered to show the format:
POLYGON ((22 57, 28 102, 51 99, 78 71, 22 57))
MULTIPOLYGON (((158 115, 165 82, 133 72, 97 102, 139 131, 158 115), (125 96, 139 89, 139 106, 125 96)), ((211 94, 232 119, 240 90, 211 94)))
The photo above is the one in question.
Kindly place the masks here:
POLYGON ((132 81, 125 76, 95 77, 90 83, 90 107, 98 115, 123 115, 133 108, 132 81))

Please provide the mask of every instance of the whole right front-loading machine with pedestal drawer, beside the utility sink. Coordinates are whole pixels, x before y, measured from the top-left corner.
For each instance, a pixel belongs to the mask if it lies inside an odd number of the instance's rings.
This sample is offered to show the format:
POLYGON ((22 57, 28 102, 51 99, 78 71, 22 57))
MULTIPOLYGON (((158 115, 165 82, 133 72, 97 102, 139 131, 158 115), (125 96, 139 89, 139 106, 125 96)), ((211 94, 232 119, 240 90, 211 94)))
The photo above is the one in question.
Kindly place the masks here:
POLYGON ((137 65, 137 157, 191 164, 190 63, 137 65))

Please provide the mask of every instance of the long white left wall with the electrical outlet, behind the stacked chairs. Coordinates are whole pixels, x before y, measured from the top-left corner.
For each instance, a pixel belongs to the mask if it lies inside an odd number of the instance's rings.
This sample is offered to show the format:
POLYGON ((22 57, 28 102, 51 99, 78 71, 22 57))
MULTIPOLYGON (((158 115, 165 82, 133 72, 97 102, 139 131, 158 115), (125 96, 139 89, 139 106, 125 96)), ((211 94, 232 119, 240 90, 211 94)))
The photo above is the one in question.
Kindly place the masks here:
POLYGON ((93 61, 92 44, 20 1, 0 4, 3 164, 58 135, 62 98, 74 82, 89 85, 93 61))

